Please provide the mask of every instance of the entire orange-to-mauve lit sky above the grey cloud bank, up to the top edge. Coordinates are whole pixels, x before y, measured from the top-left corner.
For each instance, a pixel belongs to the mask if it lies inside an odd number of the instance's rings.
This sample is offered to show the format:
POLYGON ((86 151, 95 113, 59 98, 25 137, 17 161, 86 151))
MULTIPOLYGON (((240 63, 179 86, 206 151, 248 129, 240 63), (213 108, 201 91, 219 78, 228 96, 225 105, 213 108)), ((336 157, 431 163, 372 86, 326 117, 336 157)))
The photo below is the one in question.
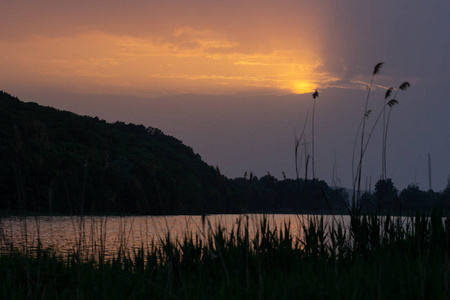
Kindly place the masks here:
POLYGON ((1 2, 0 68, 7 71, 0 82, 5 89, 140 96, 364 88, 356 82, 367 81, 358 77, 370 69, 359 58, 364 52, 347 41, 351 35, 336 34, 357 28, 337 22, 336 7, 296 0, 1 2))

